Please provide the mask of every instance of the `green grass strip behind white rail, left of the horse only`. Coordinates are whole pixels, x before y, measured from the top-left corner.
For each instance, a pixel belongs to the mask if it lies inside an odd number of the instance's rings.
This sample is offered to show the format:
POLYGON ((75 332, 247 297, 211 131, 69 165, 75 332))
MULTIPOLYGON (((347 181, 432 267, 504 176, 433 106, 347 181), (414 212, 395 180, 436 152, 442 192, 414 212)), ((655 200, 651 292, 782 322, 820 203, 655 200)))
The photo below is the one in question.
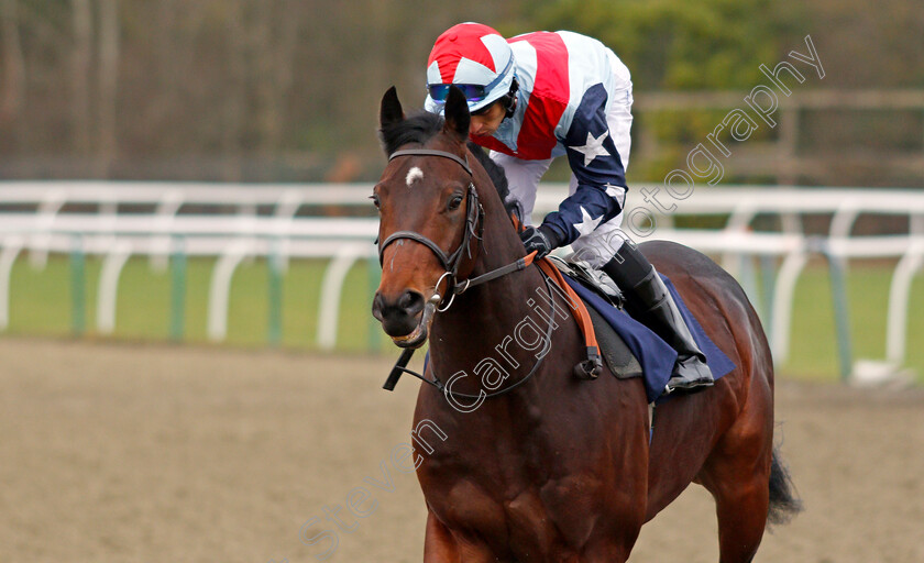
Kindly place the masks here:
MULTIPOLYGON (((208 342, 208 294, 215 260, 187 262, 184 291, 183 340, 208 342)), ((293 262, 283 276, 282 341, 279 345, 308 349, 315 345, 318 332, 320 282, 327 263, 293 262)), ((377 266, 376 266, 377 267, 377 266)), ((97 338, 96 308, 101 261, 88 258, 85 264, 86 332, 97 338)), ((231 282, 226 343, 234 346, 263 346, 270 336, 270 277, 264 261, 245 262, 234 272, 231 282)), ((33 268, 20 260, 11 279, 10 325, 16 335, 73 334, 74 310, 72 264, 66 256, 52 256, 44 269, 33 268)), ((385 347, 369 313, 371 295, 365 264, 358 264, 348 274, 341 299, 338 325, 338 350, 366 351, 374 336, 375 347, 385 347), (362 296, 350 298, 348 296, 362 296), (376 332, 371 329, 375 328, 376 332)), ((170 340, 172 278, 169 271, 152 268, 147 258, 135 257, 125 264, 119 282, 114 339, 170 340)))

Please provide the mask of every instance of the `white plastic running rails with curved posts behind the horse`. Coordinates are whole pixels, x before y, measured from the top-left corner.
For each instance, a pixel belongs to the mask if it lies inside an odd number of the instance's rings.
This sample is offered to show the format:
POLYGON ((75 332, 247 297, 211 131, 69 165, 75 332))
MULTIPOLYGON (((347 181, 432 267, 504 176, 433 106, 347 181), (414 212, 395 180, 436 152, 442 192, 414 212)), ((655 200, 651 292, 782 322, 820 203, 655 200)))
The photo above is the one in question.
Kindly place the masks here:
MULTIPOLYGON (((165 267, 175 240, 188 255, 218 256, 209 295, 208 334, 227 334, 230 283, 237 266, 249 256, 331 260, 322 283, 318 344, 336 343, 343 280, 352 265, 375 255, 374 218, 318 217, 318 207, 362 208, 367 212, 371 185, 216 185, 183 183, 20 181, 0 184, 0 330, 9 323, 10 274, 23 250, 41 267, 48 252, 70 252, 75 238, 81 252, 106 256, 99 285, 97 322, 102 333, 116 322, 116 296, 125 262, 135 254, 151 256, 165 267), (202 214, 196 206, 208 207, 202 214), (314 217, 304 210, 315 208, 314 217), (184 211, 196 210, 198 214, 184 211), (257 213, 260 211, 260 213, 257 213)), ((782 261, 771 299, 770 335, 778 362, 789 352, 792 297, 816 240, 801 232, 800 216, 829 214, 826 255, 850 258, 898 258, 889 297, 887 357, 900 363, 908 340, 908 303, 914 274, 924 262, 924 191, 908 189, 700 187, 689 198, 661 203, 659 212, 644 197, 657 186, 634 186, 629 208, 645 206, 656 216, 652 239, 673 240, 703 252, 722 254, 734 267, 741 257, 772 256, 782 261), (782 232, 752 232, 758 216, 781 218, 782 232), (672 229, 673 217, 724 216, 722 230, 672 229), (862 214, 908 217, 909 233, 894 236, 851 236, 862 214)), ((536 217, 551 211, 566 194, 564 185, 543 185, 536 217)), ((749 277, 744 276, 743 277, 749 277)), ((744 280, 745 283, 747 280, 744 280)))

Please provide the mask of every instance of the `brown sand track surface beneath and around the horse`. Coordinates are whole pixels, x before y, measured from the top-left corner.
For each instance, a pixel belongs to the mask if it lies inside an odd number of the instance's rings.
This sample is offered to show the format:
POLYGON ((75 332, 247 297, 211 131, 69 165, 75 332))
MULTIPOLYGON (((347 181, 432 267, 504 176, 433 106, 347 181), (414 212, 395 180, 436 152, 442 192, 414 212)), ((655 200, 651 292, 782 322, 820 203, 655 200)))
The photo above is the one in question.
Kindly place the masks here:
MULTIPOLYGON (((417 385, 388 361, 208 347, 0 341, 0 561, 415 562, 422 497, 391 457, 417 385), (373 481, 375 483, 373 483, 373 481), (374 504, 374 510, 373 510, 374 504)), ((778 384, 785 461, 806 512, 756 561, 924 561, 924 389, 778 384)), ((717 560, 692 487, 642 530, 632 562, 717 560)))

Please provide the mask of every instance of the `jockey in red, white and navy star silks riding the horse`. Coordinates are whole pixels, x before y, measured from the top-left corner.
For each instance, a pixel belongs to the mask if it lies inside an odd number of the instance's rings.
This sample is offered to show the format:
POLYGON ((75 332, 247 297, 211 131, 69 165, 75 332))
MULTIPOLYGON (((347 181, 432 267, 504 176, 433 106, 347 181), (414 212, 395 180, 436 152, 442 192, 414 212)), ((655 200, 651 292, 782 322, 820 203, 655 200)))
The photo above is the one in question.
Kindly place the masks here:
POLYGON ((537 257, 571 244, 628 295, 632 317, 678 352, 669 391, 713 385, 690 329, 654 267, 622 231, 632 122, 626 65, 601 42, 559 31, 505 40, 461 23, 437 38, 427 62, 425 107, 442 113, 450 86, 472 114, 470 137, 504 168, 512 202, 531 223, 539 179, 552 159, 571 165, 570 195, 542 224, 521 233, 537 257))

